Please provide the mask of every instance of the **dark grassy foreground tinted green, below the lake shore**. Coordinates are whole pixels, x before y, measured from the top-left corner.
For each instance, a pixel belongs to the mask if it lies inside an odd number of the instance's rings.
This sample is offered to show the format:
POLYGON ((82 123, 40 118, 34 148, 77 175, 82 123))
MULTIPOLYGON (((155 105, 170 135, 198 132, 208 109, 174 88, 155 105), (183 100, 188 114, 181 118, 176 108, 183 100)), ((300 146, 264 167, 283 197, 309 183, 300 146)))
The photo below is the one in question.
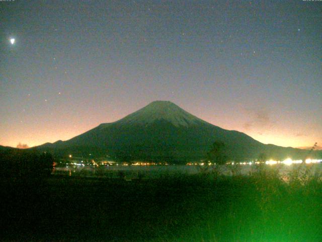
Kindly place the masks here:
POLYGON ((1 241, 322 241, 318 177, 52 176, 1 186, 1 241))

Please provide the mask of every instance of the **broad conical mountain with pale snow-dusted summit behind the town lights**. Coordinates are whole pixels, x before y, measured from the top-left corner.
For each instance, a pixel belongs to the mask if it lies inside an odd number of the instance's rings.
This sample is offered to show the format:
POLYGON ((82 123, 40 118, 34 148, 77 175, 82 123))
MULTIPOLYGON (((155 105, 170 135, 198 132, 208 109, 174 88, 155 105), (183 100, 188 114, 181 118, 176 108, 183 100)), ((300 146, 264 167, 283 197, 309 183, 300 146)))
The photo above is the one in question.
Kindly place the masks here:
MULTIPOLYGON (((303 158, 307 150, 265 145, 238 131, 209 124, 170 101, 154 101, 114 122, 67 141, 38 146, 56 155, 119 160, 185 162, 205 157, 214 141, 225 143, 231 160, 244 161, 266 153, 268 158, 303 158)), ((317 155, 317 153, 315 153, 317 155)))

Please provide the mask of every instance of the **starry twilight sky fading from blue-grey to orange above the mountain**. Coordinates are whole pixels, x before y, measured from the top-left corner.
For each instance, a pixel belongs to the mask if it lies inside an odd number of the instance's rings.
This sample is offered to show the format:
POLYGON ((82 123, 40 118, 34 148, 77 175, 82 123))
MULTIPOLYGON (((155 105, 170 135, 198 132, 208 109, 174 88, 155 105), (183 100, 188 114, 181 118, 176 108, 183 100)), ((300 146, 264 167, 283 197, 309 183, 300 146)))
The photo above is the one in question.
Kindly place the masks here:
POLYGON ((321 19, 302 0, 0 2, 0 145, 67 140, 154 100, 321 145, 321 19))

